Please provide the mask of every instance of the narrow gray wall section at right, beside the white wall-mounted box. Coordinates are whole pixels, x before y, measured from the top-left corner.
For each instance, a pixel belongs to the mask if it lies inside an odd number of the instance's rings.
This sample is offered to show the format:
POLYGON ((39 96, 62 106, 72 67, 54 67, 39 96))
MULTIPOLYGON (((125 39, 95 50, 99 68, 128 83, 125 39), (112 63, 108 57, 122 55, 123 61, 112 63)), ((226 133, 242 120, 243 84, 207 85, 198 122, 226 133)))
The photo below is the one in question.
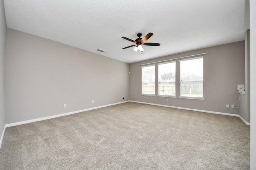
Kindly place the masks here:
POLYGON ((245 32, 245 94, 240 96, 239 115, 247 122, 250 122, 250 30, 245 32))

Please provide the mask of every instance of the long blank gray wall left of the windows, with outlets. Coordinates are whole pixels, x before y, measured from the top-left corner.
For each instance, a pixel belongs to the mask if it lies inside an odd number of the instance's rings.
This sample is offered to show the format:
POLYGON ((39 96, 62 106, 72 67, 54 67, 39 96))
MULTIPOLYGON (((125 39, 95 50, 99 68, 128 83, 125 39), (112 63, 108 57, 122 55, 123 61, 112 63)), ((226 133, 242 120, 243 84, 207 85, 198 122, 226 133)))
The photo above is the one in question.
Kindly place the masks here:
POLYGON ((129 100, 129 64, 9 28, 5 66, 6 123, 129 100))

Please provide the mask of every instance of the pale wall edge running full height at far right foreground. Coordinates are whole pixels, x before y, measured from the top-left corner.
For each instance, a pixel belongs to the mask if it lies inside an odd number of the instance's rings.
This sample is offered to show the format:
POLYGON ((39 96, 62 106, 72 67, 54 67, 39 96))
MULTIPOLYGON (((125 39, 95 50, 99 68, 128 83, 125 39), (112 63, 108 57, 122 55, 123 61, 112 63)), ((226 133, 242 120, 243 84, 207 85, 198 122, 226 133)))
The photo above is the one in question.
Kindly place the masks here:
POLYGON ((250 0, 250 169, 256 169, 256 0, 250 0))

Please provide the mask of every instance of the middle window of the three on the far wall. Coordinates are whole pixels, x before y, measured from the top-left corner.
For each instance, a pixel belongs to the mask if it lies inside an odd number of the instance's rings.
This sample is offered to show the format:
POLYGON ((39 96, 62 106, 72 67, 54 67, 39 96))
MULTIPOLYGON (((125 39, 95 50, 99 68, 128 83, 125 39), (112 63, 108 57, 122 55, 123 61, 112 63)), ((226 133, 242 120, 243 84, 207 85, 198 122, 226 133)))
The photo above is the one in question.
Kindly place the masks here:
POLYGON ((176 61, 158 64, 158 96, 175 96, 176 61))

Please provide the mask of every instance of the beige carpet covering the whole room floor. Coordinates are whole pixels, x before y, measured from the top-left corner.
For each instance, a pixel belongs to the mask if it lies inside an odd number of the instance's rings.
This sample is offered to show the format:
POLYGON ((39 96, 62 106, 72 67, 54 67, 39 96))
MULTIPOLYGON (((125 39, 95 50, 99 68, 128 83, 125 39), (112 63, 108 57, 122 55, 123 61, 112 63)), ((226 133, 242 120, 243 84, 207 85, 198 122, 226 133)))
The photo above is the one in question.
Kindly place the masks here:
POLYGON ((249 169, 238 117, 124 103, 6 128, 2 170, 249 169))

